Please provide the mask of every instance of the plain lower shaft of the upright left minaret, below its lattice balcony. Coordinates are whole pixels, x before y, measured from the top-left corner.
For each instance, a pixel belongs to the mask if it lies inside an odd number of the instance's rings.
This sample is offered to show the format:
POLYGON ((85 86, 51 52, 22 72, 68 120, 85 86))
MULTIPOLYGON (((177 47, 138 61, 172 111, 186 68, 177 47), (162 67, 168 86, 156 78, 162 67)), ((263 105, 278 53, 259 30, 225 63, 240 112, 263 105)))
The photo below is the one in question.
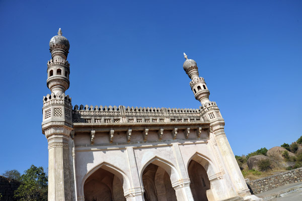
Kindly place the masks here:
POLYGON ((45 130, 48 141, 48 200, 70 200, 68 136, 64 127, 45 130))

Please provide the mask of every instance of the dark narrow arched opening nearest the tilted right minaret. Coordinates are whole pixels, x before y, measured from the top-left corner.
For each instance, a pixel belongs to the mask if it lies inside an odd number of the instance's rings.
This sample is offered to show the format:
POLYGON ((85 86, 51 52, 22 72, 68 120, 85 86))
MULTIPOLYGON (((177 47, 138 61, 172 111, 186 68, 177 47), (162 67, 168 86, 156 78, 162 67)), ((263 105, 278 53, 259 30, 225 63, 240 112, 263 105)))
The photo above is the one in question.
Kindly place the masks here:
POLYGON ((206 191, 210 189, 210 181, 205 169, 194 160, 191 160, 188 168, 190 188, 194 201, 208 200, 206 191))

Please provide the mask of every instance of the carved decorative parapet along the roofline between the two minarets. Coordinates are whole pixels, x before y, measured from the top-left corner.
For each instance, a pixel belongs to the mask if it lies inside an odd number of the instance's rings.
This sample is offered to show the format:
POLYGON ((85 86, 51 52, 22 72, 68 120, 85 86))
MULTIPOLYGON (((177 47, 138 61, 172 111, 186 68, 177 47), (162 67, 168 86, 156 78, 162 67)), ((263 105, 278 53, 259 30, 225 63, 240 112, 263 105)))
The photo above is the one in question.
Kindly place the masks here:
POLYGON ((134 108, 75 105, 73 123, 167 123, 203 122, 198 109, 134 108))

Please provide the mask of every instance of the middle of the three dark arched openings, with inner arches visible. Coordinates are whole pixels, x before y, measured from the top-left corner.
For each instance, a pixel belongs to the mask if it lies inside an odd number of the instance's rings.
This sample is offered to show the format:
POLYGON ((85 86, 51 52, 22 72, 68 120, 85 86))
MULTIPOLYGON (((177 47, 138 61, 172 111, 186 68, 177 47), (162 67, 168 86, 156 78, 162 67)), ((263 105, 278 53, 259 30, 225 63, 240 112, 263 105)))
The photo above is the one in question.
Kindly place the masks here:
POLYGON ((168 172, 156 164, 150 163, 142 173, 145 201, 176 201, 168 172))

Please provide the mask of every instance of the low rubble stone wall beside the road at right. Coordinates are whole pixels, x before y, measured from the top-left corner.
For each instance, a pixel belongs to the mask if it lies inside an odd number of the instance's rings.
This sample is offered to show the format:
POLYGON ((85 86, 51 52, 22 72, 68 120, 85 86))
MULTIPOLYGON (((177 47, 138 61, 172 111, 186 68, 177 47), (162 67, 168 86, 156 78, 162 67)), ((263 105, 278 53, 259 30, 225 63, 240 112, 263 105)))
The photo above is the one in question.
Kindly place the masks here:
POLYGON ((302 181, 302 167, 272 176, 248 181, 247 183, 252 188, 254 194, 258 194, 279 186, 283 186, 285 184, 295 183, 299 181, 302 181))

